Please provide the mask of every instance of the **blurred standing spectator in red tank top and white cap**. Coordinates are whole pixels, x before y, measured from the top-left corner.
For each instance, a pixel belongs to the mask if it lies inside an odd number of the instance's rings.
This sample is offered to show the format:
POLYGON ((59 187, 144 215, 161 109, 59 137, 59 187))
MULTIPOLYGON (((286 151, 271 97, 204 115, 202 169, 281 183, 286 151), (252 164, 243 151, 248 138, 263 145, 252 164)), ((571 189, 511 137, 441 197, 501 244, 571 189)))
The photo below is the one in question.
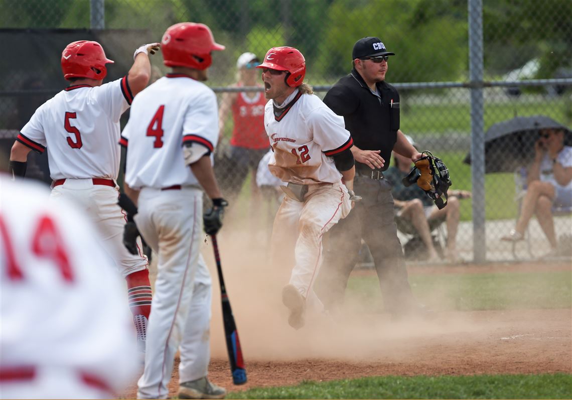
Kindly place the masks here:
MULTIPOLYGON (((260 72, 255 69, 260 60, 254 53, 243 53, 236 62, 237 82, 235 88, 243 86, 261 86, 260 72)), ((264 157, 270 144, 264 130, 264 106, 267 103, 264 93, 232 92, 224 93, 220 104, 219 142, 223 138, 224 125, 229 112, 232 110, 234 128, 230 141, 228 165, 223 167, 220 179, 224 186, 225 196, 231 206, 239 195, 244 180, 252 172, 251 190, 254 200, 259 199, 260 193, 256 185, 256 169, 264 157)), ((221 171, 217 168, 217 171, 221 171)), ((220 175, 220 174, 219 174, 220 175)))

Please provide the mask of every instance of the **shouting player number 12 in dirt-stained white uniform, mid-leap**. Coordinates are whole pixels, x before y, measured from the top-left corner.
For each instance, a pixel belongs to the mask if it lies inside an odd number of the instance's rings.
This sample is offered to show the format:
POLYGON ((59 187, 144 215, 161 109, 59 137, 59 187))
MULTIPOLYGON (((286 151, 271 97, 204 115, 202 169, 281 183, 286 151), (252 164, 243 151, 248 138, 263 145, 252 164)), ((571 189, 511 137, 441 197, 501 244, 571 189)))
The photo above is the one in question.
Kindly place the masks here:
POLYGON ((263 70, 264 95, 270 99, 264 125, 274 159, 268 167, 288 182, 274 220, 272 254, 278 259, 284 259, 283 252, 295 254, 282 300, 290 312, 288 323, 299 329, 304 326, 307 302, 315 311, 323 308, 312 287, 320 267, 322 237, 351 209, 352 138, 343 118, 303 83, 306 63, 297 49, 272 47, 257 68, 263 70))

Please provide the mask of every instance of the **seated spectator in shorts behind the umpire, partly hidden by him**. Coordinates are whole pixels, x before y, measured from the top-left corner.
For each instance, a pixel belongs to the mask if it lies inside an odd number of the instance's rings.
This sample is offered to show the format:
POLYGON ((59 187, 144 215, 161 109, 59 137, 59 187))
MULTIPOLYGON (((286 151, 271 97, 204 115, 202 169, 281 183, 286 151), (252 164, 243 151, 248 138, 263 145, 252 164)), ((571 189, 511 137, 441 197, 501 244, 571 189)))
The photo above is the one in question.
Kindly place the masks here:
MULTIPOLYGON (((406 135, 406 137, 413 146, 417 147, 410 136, 406 135)), ((391 193, 394 196, 396 219, 404 219, 415 227, 427 248, 427 258, 430 262, 441 260, 433 243, 430 226, 439 225, 439 220, 446 221, 447 247, 444 255, 449 262, 459 262, 460 259, 456 251, 459 199, 471 197, 471 193, 459 190, 449 191, 446 207, 438 209, 433 200, 418 185, 411 185, 410 187, 403 185, 403 177, 407 176, 413 167, 411 159, 396 152, 393 153, 393 156, 395 166, 388 168, 384 175, 393 185, 391 193)))

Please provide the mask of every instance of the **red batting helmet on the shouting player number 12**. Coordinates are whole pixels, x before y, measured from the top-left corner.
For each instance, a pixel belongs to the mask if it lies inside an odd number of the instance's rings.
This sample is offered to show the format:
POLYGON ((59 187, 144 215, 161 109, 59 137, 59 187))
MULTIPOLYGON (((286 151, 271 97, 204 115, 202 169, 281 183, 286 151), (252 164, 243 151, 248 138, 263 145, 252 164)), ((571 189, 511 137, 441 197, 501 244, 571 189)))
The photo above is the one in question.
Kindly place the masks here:
POLYGON ((286 84, 291 88, 300 86, 306 74, 306 60, 294 47, 272 47, 264 57, 264 62, 256 68, 270 68, 287 71, 286 84))

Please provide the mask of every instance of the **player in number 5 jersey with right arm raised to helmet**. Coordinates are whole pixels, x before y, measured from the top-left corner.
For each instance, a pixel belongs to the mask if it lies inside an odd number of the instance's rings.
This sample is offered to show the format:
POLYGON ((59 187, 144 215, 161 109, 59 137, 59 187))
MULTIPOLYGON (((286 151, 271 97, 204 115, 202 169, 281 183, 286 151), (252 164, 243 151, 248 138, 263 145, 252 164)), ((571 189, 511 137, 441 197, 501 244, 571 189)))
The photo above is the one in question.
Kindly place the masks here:
POLYGON ((106 251, 127 281, 141 351, 145 349, 151 286, 145 256, 141 252, 129 254, 121 243, 125 215, 117 205, 121 153, 117 141, 121 114, 147 85, 151 68, 148 53, 157 49, 158 43, 139 47, 129 73, 103 84, 106 64, 113 61, 105 57, 100 43, 77 41, 67 45, 61 65, 70 86, 36 110, 10 152, 13 175, 24 176, 28 153, 49 149, 51 197, 73 199, 97 224, 106 251))

